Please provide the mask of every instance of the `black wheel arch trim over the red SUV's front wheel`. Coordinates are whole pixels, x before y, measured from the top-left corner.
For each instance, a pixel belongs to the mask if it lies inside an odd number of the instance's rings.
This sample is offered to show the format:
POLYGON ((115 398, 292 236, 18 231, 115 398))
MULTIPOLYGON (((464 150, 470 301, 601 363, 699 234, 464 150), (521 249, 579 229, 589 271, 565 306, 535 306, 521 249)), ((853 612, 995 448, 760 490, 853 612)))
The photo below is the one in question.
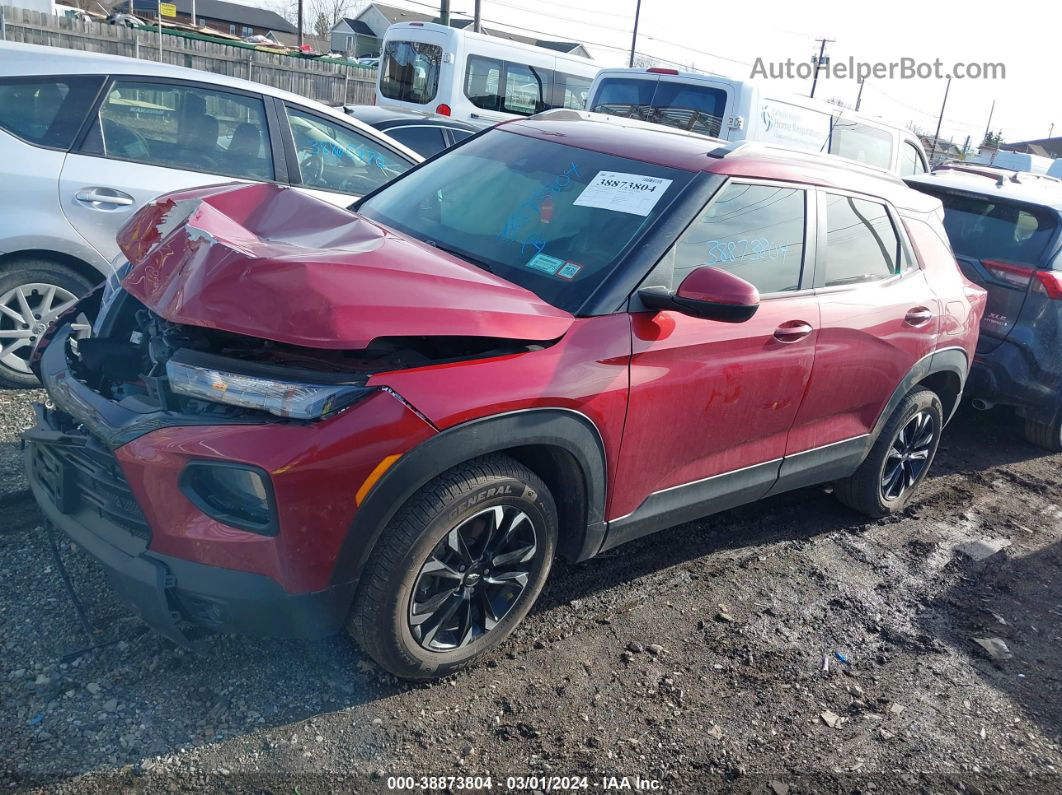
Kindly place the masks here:
POLYGON ((358 506, 340 547, 332 583, 360 578, 388 523, 431 480, 480 455, 525 447, 556 448, 577 463, 583 478, 585 522, 573 529, 578 538, 559 539, 559 549, 575 560, 593 556, 605 533, 607 474, 601 433, 589 417, 573 409, 525 409, 448 428, 402 454, 358 506))

